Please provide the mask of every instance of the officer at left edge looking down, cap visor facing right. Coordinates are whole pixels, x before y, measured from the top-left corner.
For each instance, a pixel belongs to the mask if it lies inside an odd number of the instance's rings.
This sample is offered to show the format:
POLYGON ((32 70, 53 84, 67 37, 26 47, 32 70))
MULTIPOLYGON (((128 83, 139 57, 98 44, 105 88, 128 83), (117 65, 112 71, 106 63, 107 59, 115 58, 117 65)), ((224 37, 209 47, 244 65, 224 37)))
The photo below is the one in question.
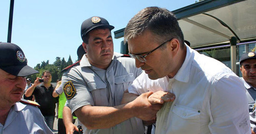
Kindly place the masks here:
POLYGON ((53 133, 36 104, 20 101, 26 76, 35 73, 22 49, 0 42, 0 133, 53 133))

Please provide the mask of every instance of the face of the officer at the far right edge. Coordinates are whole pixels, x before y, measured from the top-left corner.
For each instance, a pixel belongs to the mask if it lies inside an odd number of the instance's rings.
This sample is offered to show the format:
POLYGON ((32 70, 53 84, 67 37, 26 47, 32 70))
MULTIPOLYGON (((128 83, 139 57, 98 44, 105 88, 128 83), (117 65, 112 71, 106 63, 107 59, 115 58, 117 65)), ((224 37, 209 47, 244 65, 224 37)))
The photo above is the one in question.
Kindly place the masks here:
POLYGON ((251 85, 256 83, 256 59, 246 59, 242 62, 240 71, 246 82, 251 85))

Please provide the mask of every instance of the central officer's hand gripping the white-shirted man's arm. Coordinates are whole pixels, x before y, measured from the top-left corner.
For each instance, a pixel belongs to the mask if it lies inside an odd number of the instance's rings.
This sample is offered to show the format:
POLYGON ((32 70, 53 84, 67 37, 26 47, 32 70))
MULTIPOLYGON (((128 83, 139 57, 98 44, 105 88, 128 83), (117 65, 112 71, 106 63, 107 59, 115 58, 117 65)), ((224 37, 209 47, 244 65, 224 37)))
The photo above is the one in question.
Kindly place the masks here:
POLYGON ((134 101, 132 101, 132 112, 135 117, 140 118, 144 121, 156 119, 157 111, 162 107, 162 104, 151 104, 148 102, 148 96, 152 95, 153 92, 147 92, 141 94, 134 101))

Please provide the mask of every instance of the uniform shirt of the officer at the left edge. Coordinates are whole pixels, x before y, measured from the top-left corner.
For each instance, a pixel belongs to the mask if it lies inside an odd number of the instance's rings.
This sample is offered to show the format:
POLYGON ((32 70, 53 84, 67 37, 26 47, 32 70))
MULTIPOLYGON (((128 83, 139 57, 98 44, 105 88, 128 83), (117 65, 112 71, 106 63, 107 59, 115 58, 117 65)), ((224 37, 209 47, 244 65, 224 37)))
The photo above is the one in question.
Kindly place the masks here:
POLYGON ((15 103, 5 125, 0 123, 0 133, 53 133, 36 106, 15 103))

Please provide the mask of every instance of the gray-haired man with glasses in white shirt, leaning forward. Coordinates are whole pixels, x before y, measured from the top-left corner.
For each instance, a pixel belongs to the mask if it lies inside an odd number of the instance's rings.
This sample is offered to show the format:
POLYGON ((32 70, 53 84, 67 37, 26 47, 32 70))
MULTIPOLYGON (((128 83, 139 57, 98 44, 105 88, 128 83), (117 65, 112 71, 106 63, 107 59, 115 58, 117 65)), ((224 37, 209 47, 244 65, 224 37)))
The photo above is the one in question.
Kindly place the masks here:
POLYGON ((176 96, 158 111, 156 133, 251 132, 242 81, 221 62, 190 49, 172 12, 141 10, 127 24, 124 40, 144 70, 129 92, 153 91, 150 102, 167 92, 176 96))

